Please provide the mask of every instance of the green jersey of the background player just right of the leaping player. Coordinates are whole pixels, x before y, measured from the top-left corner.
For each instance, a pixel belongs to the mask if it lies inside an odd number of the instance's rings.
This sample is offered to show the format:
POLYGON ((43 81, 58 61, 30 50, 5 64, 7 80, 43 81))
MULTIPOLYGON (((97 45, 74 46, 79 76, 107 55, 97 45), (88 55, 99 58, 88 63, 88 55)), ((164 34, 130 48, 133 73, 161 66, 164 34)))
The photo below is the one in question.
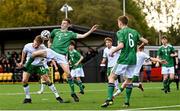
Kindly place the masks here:
POLYGON ((79 61, 80 58, 81 58, 81 54, 77 50, 74 49, 72 51, 69 51, 69 59, 71 62, 72 69, 82 67, 81 63, 78 66, 75 66, 75 64, 79 61))

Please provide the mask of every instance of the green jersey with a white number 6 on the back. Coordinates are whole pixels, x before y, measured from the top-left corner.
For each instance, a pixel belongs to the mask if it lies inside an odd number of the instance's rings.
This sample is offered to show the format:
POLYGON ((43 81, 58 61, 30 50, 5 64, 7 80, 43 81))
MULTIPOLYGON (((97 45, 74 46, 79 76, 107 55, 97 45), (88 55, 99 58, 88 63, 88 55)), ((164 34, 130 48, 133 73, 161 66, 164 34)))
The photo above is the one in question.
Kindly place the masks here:
POLYGON ((136 30, 126 27, 117 32, 117 38, 119 43, 124 44, 117 63, 135 65, 137 43, 139 42, 140 34, 136 30))

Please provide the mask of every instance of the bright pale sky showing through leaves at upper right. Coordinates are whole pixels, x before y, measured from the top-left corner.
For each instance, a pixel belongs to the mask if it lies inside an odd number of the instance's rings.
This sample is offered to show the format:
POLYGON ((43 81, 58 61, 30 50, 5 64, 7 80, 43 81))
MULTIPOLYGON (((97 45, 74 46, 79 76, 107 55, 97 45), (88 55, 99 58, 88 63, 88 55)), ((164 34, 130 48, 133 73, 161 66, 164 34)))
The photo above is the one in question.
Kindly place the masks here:
POLYGON ((180 0, 139 0, 144 3, 143 12, 149 27, 154 27, 157 31, 167 32, 167 28, 180 25, 180 0), (157 11, 159 10, 159 11, 157 11))

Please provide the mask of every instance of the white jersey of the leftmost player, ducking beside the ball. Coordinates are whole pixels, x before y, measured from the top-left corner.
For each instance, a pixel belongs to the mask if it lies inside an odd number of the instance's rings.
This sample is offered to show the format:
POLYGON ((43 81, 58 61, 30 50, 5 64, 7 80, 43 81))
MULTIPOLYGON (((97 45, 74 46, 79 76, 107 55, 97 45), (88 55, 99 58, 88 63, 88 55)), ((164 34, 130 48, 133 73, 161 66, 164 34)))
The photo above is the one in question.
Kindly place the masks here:
MULTIPOLYGON (((46 49, 46 46, 44 44, 41 44, 37 49, 33 47, 33 43, 28 43, 24 46, 23 52, 27 54, 26 62, 31 57, 32 53, 37 50, 46 49)), ((36 57, 34 61, 31 63, 32 65, 41 66, 44 65, 46 68, 47 66, 47 60, 43 57, 36 57)))

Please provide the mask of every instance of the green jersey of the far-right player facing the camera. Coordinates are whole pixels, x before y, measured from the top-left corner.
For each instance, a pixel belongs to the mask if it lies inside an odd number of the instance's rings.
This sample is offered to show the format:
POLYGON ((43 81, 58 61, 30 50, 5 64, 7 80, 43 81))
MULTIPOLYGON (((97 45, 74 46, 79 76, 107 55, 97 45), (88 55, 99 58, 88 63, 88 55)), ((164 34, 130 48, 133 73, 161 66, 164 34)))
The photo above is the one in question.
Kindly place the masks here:
POLYGON ((162 66, 165 67, 174 66, 174 58, 170 56, 174 52, 175 52, 174 47, 170 44, 168 44, 167 46, 162 45, 158 49, 157 55, 159 56, 159 58, 161 58, 162 60, 166 60, 168 62, 167 64, 162 64, 162 66))

